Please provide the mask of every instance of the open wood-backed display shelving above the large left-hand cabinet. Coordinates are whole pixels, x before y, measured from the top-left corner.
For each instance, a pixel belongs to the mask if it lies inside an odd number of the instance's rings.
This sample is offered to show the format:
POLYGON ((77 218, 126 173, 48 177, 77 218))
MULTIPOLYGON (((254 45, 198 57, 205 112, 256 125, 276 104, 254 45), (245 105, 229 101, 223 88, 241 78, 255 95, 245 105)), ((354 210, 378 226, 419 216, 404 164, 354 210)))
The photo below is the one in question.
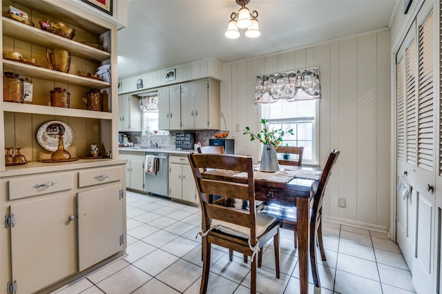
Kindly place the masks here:
MULTIPOLYGON (((117 150, 118 130, 112 123, 118 116, 115 23, 96 17, 92 6, 87 12, 66 1, 3 0, 1 6, 3 11, 12 6, 26 12, 34 26, 2 17, 2 51, 19 52, 28 60, 2 58, 2 71, 15 72, 32 84, 32 99, 23 104, 0 99, 0 119, 4 126, 0 131, 0 150, 15 146, 23 148, 22 154, 27 161, 50 159, 52 152, 39 145, 36 134, 41 125, 52 120, 63 121, 73 128, 73 143, 66 148, 71 157, 87 156, 93 143, 99 144, 103 155, 117 150), (64 23, 75 29, 75 36, 68 39, 42 30, 39 21, 64 23), (70 56, 66 72, 51 69, 47 49, 67 52, 57 57, 52 55, 51 60, 53 63, 55 59, 70 56), (89 75, 99 71, 98 68, 107 68, 104 70, 106 78, 89 75), (55 107, 53 101, 51 103, 50 91, 55 88, 64 88, 69 93, 68 107, 55 107), (101 92, 100 111, 88 110, 86 97, 91 89, 101 92)), ((3 156, 0 157, 0 170, 6 170, 3 156)))

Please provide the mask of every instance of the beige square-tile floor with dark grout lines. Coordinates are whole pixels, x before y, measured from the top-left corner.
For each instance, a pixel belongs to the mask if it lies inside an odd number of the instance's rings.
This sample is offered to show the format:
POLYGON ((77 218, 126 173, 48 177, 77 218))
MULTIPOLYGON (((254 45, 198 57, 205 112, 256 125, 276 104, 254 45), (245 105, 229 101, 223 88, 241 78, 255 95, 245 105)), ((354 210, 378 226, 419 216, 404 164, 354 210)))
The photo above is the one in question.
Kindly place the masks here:
MULTIPOLYGON (((58 294, 199 293, 202 274, 200 208, 127 193, 127 255, 58 294)), ((320 261, 320 291, 309 293, 415 293, 412 276, 397 244, 386 233, 323 223, 327 262, 320 261)), ((320 260, 320 258, 319 258, 320 260)), ((293 232, 281 232, 281 276, 276 279, 272 244, 258 268, 259 293, 298 293, 298 255, 293 232)), ((249 264, 213 246, 207 293, 250 293, 249 264)))

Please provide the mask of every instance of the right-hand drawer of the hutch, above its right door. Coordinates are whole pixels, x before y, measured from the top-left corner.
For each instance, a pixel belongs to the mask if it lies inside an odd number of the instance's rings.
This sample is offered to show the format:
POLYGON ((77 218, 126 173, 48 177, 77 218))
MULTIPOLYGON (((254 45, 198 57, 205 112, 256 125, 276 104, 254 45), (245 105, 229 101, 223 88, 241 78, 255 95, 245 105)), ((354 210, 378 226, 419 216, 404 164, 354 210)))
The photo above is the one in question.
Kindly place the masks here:
POLYGON ((87 187, 97 184, 121 181, 122 168, 97 168, 78 173, 78 186, 87 187))

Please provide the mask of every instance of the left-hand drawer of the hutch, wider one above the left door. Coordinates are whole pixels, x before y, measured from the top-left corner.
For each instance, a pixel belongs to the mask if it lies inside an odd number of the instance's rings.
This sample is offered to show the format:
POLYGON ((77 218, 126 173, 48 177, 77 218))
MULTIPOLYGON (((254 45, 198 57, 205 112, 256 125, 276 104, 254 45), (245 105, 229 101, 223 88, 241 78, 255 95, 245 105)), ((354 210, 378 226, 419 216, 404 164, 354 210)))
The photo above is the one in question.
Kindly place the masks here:
POLYGON ((73 188, 73 174, 61 173, 46 176, 21 177, 8 181, 9 199, 43 195, 73 188))

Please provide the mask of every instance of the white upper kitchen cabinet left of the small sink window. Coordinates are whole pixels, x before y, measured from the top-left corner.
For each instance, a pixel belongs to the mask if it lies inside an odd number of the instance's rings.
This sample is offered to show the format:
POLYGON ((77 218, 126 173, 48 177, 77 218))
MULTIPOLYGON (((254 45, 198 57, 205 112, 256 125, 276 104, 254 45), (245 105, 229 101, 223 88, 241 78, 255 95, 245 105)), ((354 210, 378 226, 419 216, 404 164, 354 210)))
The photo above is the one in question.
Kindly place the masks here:
POLYGON ((131 95, 118 97, 118 130, 120 132, 141 132, 142 116, 140 99, 131 95))

